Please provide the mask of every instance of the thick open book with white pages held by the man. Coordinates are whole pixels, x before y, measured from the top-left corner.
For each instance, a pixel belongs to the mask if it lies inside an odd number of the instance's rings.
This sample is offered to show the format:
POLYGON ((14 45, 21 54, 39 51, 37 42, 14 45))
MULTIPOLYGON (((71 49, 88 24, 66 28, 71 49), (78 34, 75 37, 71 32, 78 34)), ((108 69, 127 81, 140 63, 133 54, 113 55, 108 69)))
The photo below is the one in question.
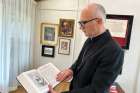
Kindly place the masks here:
POLYGON ((52 63, 40 66, 38 69, 26 71, 17 76, 17 80, 28 93, 48 93, 48 84, 55 87, 60 82, 56 75, 60 72, 52 63))

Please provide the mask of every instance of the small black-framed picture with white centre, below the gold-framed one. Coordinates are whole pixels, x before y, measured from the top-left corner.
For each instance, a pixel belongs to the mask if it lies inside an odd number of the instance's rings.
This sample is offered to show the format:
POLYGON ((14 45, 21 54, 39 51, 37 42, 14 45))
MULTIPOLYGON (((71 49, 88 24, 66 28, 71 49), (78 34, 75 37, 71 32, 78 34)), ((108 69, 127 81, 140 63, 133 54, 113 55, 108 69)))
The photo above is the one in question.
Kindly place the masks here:
POLYGON ((45 57, 54 57, 55 47, 42 45, 42 56, 45 57))

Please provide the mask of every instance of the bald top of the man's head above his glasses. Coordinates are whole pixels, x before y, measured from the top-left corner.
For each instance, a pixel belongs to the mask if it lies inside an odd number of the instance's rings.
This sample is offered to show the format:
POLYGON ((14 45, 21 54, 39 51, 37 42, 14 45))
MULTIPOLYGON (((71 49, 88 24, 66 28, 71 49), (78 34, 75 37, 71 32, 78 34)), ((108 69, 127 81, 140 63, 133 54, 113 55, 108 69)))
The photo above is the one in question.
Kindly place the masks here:
POLYGON ((106 12, 102 5, 96 3, 90 3, 82 9, 81 12, 87 18, 101 18, 103 22, 106 19, 106 12))

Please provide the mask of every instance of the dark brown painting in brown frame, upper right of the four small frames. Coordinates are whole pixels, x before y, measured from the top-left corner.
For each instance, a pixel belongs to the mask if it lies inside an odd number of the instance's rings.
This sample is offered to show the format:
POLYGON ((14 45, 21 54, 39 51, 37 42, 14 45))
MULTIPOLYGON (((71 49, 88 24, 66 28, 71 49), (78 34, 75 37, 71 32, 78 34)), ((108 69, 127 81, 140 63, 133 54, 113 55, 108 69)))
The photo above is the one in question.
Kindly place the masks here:
POLYGON ((60 37, 73 37, 73 33, 74 33, 74 20, 60 19, 58 35, 60 37))

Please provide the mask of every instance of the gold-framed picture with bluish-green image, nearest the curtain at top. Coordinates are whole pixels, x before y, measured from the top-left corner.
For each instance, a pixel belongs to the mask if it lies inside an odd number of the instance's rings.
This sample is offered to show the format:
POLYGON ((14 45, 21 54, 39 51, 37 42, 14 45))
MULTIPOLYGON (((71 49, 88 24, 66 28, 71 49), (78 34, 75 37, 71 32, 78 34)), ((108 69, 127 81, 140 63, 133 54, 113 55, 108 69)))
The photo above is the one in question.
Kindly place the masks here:
POLYGON ((41 24, 41 44, 43 45, 56 45, 58 38, 58 25, 50 23, 41 24))

